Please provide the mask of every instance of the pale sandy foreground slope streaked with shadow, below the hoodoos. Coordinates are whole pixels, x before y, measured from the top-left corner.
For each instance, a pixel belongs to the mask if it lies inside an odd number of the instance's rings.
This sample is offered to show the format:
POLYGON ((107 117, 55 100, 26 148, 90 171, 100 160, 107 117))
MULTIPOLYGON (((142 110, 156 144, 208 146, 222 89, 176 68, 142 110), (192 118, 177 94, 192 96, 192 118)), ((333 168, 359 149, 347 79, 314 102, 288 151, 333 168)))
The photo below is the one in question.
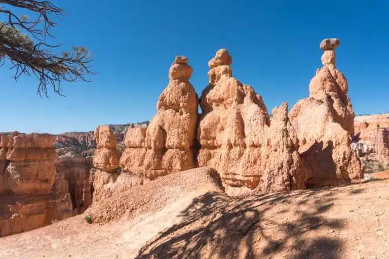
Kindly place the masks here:
POLYGON ((177 190, 131 219, 0 238, 0 258, 389 258, 389 180, 240 199, 177 190))

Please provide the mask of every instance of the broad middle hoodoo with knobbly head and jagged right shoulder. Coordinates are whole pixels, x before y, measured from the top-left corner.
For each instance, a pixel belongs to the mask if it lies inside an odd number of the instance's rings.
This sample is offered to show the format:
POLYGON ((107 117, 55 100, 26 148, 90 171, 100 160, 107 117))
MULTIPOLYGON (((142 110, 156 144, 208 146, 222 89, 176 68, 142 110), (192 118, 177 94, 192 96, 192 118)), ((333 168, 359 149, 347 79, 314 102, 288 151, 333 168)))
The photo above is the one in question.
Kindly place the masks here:
MULTIPOLYGON (((304 188, 305 168, 292 141, 288 106, 273 110, 273 120, 249 85, 232 77, 229 53, 221 49, 208 63, 208 87, 197 131, 199 166, 214 167, 226 185, 246 191, 304 188)), ((292 133, 293 135, 293 133, 292 133)))

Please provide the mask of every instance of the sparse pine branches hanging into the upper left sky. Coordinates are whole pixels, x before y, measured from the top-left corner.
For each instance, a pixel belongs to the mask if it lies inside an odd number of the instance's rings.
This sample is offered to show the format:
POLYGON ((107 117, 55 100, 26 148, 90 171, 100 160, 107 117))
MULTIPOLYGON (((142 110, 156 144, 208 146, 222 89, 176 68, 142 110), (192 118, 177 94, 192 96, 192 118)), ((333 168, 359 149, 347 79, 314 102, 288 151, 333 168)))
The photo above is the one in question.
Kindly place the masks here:
POLYGON ((38 78, 37 94, 48 97, 48 88, 61 95, 61 82, 89 81, 92 61, 88 49, 72 47, 69 52, 60 51, 61 45, 48 44, 53 38, 52 29, 65 11, 50 1, 0 0, 0 66, 9 59, 13 75, 38 78), (34 18, 16 12, 30 13, 34 18))

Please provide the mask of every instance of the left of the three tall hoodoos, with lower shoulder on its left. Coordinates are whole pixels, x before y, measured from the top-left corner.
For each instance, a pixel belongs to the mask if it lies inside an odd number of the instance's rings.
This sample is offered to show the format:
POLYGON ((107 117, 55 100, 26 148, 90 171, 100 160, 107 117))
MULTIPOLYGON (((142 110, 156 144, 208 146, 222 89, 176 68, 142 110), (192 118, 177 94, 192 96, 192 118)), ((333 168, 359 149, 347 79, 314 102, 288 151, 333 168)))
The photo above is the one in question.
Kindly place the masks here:
POLYGON ((175 58, 168 87, 157 104, 157 115, 148 127, 129 127, 126 149, 120 159, 123 172, 146 179, 196 166, 198 97, 189 82, 192 68, 186 57, 175 58))

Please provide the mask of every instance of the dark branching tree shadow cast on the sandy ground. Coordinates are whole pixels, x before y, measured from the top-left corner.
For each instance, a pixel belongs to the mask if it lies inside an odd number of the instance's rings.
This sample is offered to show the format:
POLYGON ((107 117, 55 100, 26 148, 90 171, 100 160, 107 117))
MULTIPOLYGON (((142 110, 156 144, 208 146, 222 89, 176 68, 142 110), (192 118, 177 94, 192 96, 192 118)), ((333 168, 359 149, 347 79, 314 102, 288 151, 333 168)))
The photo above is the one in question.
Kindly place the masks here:
POLYGON ((206 193, 181 212, 181 223, 149 240, 136 258, 340 258, 342 242, 329 230, 344 222, 323 215, 334 198, 331 191, 318 191, 244 199, 206 193))

